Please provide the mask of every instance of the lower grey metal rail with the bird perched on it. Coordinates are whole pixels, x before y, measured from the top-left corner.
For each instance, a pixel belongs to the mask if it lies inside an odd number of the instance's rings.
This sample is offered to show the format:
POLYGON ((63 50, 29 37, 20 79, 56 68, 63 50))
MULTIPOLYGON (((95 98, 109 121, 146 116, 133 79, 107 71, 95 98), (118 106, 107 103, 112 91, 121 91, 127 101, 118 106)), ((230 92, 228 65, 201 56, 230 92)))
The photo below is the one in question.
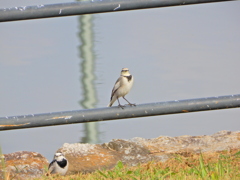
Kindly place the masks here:
POLYGON ((137 106, 85 109, 44 114, 0 117, 0 130, 66 125, 146 116, 189 113, 240 107, 240 94, 175 100, 137 106))

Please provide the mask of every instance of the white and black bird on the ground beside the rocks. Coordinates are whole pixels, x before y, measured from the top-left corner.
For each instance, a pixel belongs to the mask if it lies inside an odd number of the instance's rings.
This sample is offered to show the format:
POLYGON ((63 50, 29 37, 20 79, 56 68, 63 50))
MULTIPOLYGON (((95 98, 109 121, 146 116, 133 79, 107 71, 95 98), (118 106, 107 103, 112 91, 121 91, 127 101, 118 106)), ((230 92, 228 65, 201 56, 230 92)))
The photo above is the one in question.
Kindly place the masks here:
POLYGON ((50 174, 60 174, 64 176, 68 170, 68 160, 62 153, 56 153, 53 161, 48 166, 50 174))

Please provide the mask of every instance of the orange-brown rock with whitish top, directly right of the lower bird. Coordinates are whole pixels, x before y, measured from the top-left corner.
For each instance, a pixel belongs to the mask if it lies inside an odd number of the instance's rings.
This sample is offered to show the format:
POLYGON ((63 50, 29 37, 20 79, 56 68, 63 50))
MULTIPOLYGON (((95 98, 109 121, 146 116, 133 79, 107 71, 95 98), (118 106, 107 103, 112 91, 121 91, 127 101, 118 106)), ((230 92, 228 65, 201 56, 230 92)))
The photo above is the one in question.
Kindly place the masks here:
POLYGON ((62 152, 69 161, 67 174, 109 169, 121 160, 118 153, 94 144, 65 143, 57 152, 62 152))

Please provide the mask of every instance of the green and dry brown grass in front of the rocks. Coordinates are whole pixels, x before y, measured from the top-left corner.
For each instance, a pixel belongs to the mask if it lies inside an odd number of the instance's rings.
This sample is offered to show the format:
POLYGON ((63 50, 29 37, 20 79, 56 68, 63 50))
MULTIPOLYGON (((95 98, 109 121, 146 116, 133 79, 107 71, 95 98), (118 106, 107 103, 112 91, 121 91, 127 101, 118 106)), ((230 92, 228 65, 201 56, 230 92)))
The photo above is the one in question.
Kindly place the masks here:
POLYGON ((166 162, 149 162, 128 167, 122 162, 112 170, 98 170, 89 174, 69 176, 44 176, 42 179, 58 180, 238 180, 240 179, 240 151, 175 154, 166 162))

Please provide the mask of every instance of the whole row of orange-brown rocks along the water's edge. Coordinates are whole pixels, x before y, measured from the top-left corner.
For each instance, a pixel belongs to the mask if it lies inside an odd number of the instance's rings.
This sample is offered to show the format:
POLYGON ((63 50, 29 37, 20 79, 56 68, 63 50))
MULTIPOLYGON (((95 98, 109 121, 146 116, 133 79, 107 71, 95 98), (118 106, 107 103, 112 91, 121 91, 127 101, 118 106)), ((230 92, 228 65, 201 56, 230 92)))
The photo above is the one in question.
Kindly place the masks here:
MULTIPOLYGON (((226 150, 240 150, 240 131, 220 131, 204 136, 114 139, 104 144, 65 143, 57 152, 62 152, 69 161, 67 174, 75 174, 110 169, 118 161, 135 166, 149 161, 165 162, 175 154, 188 156, 226 150)), ((45 173, 44 166, 48 167, 47 159, 34 152, 5 154, 4 159, 5 168, 0 165, 0 178, 3 178, 4 171, 5 175, 10 175, 12 179, 40 177, 45 173)))

